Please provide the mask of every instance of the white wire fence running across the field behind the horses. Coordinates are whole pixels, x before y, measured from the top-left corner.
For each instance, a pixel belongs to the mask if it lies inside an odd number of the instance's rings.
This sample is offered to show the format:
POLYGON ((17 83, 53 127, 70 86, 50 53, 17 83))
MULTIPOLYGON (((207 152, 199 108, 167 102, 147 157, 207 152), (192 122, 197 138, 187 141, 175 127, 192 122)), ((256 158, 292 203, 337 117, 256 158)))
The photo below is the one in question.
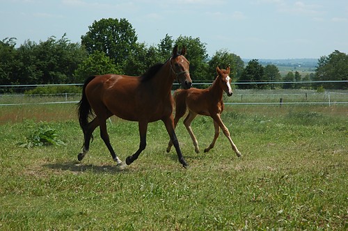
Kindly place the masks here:
MULTIPOLYGON (((347 81, 301 81, 296 83, 342 83, 347 81)), ((273 84, 294 82, 253 82, 243 84, 273 84)), ((178 83, 174 83, 178 85, 178 83)), ((193 85, 209 86, 212 83, 193 83, 193 85)), ((41 86, 81 86, 82 83, 72 84, 44 84, 44 85, 1 85, 1 88, 35 88, 41 86)), ((81 94, 59 93, 59 94, 2 94, 0 95, 0 106, 24 106, 33 104, 77 104, 81 94)), ((232 97, 223 98, 226 105, 348 105, 348 90, 330 90, 317 93, 316 90, 306 89, 275 89, 255 90, 236 89, 232 97)))

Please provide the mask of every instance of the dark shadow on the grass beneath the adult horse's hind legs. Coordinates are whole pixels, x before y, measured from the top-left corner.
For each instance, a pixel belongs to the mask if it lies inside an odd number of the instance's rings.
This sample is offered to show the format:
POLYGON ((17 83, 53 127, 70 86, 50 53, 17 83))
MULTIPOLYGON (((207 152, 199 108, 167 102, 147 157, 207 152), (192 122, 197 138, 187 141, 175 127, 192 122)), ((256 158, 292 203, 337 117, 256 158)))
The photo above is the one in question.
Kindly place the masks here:
POLYGON ((69 161, 65 163, 54 163, 44 164, 45 168, 51 168, 55 170, 71 171, 74 173, 84 173, 87 171, 93 173, 127 173, 129 168, 122 164, 122 166, 106 165, 106 166, 95 166, 93 164, 81 164, 78 161, 69 161))

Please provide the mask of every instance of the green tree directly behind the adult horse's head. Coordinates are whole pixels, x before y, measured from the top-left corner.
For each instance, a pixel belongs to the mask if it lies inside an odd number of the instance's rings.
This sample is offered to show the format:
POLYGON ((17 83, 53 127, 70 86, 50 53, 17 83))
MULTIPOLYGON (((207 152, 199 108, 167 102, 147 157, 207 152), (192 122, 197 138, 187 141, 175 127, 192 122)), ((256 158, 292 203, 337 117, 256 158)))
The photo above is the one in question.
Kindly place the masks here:
MULTIPOLYGON (((211 79, 207 74, 207 49, 200 38, 192 38, 180 35, 175 44, 187 48, 186 58, 190 62, 190 76, 193 80, 211 79)), ((172 48, 173 49, 173 48, 172 48)))

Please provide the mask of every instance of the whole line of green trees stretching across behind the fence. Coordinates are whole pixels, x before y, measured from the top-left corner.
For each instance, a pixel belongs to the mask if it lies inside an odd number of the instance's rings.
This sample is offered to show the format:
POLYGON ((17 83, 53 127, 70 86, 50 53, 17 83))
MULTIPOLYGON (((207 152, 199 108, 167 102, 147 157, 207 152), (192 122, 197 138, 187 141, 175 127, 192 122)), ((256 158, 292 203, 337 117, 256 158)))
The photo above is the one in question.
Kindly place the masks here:
POLYGON ((16 47, 15 38, 4 38, 0 41, 0 85, 83 83, 90 75, 106 73, 138 76, 148 67, 164 63, 174 45, 187 47, 191 78, 196 82, 212 81, 217 65, 229 65, 233 81, 240 83, 237 88, 348 88, 348 83, 300 84, 310 80, 347 80, 348 56, 340 51, 319 58, 315 74, 301 76, 299 72, 289 72, 281 77, 276 65, 262 65, 256 59, 245 65, 242 58, 226 49, 208 57, 206 44, 200 38, 180 35, 174 40, 167 34, 158 45, 148 46, 138 42, 127 19, 112 18, 88 26, 81 43, 71 42, 64 34, 59 39, 51 37, 38 43, 26 40, 16 47), (260 81, 294 83, 242 84, 260 81))

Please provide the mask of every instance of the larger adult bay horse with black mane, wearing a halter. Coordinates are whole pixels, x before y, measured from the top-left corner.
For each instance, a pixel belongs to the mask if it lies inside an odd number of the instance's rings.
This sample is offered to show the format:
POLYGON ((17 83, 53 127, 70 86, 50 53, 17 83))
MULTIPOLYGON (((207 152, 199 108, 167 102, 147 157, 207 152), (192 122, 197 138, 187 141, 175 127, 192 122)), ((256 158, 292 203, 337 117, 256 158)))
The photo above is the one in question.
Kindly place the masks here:
POLYGON ((116 115, 124 120, 139 122, 139 149, 132 156, 127 157, 127 165, 132 164, 145 149, 148 123, 157 120, 164 122, 182 166, 188 165, 182 157, 175 135, 171 95, 175 78, 183 88, 190 88, 192 84, 189 61, 184 54, 186 54, 186 48, 182 48, 180 54, 177 54, 177 46, 175 46, 173 56, 168 61, 150 67, 141 77, 105 74, 86 79, 82 99, 78 104, 79 123, 84 132, 84 146, 78 155, 79 161, 84 159, 93 131, 99 126, 100 136, 113 160, 117 164, 122 163, 113 151, 106 131, 106 119, 116 115), (93 120, 88 122, 90 116, 93 116, 93 120))

